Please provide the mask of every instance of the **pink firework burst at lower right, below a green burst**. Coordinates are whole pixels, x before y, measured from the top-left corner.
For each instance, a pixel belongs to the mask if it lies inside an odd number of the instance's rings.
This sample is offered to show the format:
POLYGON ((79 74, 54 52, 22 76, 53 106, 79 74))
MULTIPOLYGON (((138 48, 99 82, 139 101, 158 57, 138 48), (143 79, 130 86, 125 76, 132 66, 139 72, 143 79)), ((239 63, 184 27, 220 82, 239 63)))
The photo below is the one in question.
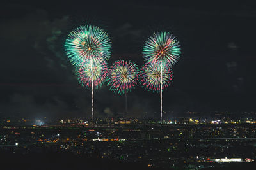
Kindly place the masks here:
POLYGON ((173 80, 173 72, 170 67, 166 65, 155 64, 150 62, 145 64, 140 71, 140 83, 142 87, 146 90, 151 90, 152 92, 161 91, 166 89, 173 80), (162 66, 162 69, 161 69, 162 66), (162 73, 161 73, 162 72, 162 73), (162 78, 161 78, 162 75, 162 78))

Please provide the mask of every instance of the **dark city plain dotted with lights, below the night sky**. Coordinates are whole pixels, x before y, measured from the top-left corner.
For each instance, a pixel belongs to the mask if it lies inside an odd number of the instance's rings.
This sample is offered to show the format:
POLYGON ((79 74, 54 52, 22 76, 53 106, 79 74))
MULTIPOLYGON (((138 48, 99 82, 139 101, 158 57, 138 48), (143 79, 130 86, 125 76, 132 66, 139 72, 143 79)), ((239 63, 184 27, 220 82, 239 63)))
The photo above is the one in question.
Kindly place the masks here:
POLYGON ((256 169, 255 129, 254 124, 3 125, 0 169, 256 169))

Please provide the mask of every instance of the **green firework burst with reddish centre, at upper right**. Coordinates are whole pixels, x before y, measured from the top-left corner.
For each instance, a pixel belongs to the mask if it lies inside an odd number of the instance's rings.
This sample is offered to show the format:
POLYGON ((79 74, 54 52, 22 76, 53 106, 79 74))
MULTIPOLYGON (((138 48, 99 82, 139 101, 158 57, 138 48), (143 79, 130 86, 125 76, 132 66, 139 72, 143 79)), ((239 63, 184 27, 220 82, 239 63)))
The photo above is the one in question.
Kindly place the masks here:
POLYGON ((143 57, 146 62, 172 67, 180 57, 179 41, 169 32, 154 33, 143 46, 143 57))

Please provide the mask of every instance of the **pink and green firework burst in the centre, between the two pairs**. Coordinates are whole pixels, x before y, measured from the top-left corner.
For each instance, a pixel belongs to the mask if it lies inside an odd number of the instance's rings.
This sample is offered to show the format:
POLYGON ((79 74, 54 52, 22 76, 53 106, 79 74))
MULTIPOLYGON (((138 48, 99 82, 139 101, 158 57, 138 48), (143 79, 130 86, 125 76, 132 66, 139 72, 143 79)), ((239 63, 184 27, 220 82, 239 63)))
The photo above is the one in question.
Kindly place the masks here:
POLYGON ((109 69, 108 85, 117 94, 131 91, 137 85, 138 66, 128 60, 118 60, 109 69))

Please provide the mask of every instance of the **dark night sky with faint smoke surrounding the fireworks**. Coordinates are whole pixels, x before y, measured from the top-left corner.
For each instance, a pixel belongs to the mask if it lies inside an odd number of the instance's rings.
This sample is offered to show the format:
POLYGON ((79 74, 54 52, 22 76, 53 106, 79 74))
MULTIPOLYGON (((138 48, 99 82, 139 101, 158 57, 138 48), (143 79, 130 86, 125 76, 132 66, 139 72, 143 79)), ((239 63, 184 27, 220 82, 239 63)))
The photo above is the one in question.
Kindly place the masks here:
MULTIPOLYGON (((91 92, 79 86, 63 50, 68 32, 83 24, 108 32, 109 64, 129 59, 141 67, 142 47, 153 32, 170 31, 179 39, 182 55, 163 93, 165 117, 255 111, 256 6, 168 2, 1 4, 0 115, 90 116, 91 92)), ((124 113, 124 101, 104 85, 95 91, 96 114, 124 113)), ((128 110, 134 117, 159 117, 159 94, 136 87, 128 110)))

